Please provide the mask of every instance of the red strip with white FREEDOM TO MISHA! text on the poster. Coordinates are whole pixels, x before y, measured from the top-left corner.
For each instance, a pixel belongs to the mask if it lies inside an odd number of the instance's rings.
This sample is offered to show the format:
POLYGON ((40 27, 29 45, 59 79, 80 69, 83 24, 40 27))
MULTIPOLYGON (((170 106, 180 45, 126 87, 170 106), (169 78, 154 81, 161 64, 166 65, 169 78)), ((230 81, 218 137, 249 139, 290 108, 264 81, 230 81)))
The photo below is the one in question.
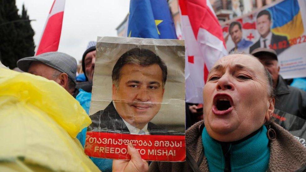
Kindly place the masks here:
POLYGON ((133 135, 87 132, 85 154, 97 158, 130 159, 127 145, 132 143, 141 158, 150 161, 185 161, 185 136, 133 135))

